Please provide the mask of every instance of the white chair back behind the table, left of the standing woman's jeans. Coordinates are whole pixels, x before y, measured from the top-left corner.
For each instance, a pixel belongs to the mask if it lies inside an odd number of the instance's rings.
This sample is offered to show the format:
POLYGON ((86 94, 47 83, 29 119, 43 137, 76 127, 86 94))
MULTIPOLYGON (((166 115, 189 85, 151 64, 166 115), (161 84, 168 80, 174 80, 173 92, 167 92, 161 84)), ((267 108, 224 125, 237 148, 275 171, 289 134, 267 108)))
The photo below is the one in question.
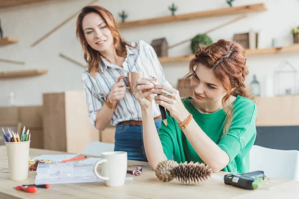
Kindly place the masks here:
POLYGON ((83 150, 84 155, 101 156, 103 152, 114 151, 114 143, 93 141, 83 150))

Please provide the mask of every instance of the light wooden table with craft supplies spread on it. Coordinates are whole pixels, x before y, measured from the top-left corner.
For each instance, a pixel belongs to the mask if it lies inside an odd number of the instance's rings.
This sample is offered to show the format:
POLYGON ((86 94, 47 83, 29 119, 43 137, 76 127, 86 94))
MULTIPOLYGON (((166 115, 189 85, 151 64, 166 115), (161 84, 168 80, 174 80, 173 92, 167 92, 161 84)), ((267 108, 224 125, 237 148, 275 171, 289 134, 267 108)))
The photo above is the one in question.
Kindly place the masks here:
MULTIPOLYGON (((30 149, 30 156, 41 154, 65 154, 65 152, 30 149)), ((8 168, 6 147, 0 146, 0 170, 8 168)), ((128 161, 128 165, 145 162, 128 161)), ((133 168, 132 168, 133 169, 133 168)), ((219 172, 216 175, 224 175, 219 172)), ((225 185, 223 180, 210 178, 204 183, 188 186, 173 180, 169 183, 159 181, 149 167, 144 167, 141 176, 126 181, 122 187, 107 187, 104 183, 77 183, 50 185, 49 189, 38 189, 34 194, 16 191, 13 187, 22 184, 34 184, 36 172, 30 171, 28 178, 22 181, 9 180, 9 174, 0 173, 0 199, 213 199, 213 198, 296 198, 299 196, 299 182, 270 179, 261 183, 257 190, 243 190, 225 185)), ((128 175, 132 176, 132 175, 128 175)))

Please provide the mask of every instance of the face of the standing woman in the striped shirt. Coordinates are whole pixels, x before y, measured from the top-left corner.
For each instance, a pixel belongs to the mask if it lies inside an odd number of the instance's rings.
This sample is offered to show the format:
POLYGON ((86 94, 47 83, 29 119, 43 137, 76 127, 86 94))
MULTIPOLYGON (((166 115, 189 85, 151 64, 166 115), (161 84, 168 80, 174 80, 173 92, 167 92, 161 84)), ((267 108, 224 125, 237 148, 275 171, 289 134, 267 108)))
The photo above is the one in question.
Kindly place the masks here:
POLYGON ((99 14, 88 13, 82 20, 82 28, 87 43, 94 50, 105 52, 114 48, 113 35, 99 14))

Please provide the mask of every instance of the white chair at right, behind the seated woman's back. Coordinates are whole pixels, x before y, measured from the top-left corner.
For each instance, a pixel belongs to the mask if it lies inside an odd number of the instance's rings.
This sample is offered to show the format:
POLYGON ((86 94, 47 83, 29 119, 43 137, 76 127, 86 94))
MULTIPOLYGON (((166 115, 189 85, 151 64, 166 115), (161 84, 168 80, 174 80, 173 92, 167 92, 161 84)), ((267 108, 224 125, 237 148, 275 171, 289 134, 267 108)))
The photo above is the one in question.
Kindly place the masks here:
POLYGON ((253 145, 250 151, 250 171, 264 171, 271 178, 299 181, 299 151, 253 145))

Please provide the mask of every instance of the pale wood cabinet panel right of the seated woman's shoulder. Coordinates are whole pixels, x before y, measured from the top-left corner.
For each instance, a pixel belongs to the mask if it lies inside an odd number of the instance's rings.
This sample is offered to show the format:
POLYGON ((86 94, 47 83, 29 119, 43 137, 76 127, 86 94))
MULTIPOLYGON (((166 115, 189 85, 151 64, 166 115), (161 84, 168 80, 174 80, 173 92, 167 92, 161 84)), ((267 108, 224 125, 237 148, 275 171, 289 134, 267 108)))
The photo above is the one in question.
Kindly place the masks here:
POLYGON ((299 96, 257 98, 257 126, 298 126, 299 96))

